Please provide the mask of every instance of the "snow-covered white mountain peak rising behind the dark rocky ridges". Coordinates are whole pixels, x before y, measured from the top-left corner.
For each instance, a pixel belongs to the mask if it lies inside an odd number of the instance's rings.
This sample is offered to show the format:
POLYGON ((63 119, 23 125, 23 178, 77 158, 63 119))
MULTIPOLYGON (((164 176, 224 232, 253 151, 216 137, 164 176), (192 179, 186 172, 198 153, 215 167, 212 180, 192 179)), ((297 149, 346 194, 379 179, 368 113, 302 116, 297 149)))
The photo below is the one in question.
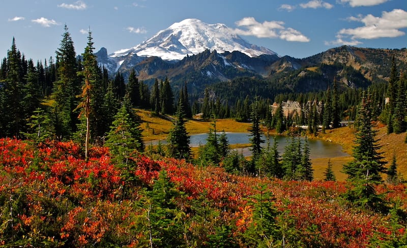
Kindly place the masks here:
POLYGON ((117 51, 110 57, 136 54, 143 57, 157 56, 164 60, 181 60, 187 55, 198 54, 207 49, 218 53, 240 51, 250 57, 276 54, 267 48, 246 42, 225 24, 207 24, 198 19, 185 19, 159 31, 136 47, 117 51))

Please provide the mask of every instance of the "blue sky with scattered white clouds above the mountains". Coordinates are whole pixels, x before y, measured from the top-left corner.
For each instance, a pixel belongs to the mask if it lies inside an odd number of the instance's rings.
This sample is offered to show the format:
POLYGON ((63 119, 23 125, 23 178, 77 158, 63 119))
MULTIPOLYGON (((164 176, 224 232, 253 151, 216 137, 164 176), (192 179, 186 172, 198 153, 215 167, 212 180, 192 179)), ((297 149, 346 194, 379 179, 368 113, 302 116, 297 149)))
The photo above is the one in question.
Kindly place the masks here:
POLYGON ((89 28, 95 48, 131 48, 186 18, 224 23, 248 42, 304 58, 332 47, 407 46, 405 0, 5 0, 0 10, 0 57, 13 37, 26 58, 55 56, 64 24, 76 53, 89 28))

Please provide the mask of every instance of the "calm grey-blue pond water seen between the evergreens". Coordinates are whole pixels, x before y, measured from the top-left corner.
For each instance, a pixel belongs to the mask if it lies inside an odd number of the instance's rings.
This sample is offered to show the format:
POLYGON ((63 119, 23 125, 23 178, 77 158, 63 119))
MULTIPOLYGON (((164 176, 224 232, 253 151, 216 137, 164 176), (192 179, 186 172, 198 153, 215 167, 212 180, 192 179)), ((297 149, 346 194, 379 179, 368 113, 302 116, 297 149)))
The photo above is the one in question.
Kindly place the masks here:
MULTIPOLYGON (((220 134, 220 133, 219 133, 220 134)), ((226 132, 227 139, 230 145, 235 144, 248 144, 249 141, 249 133, 245 132, 226 132)), ((201 145, 205 145, 207 142, 208 134, 201 133, 201 134, 194 134, 191 135, 190 138, 190 146, 191 147, 198 147, 201 145)), ((284 147, 287 144, 287 140, 290 137, 282 136, 282 135, 269 135, 270 145, 273 145, 274 139, 278 143, 278 152, 280 155, 284 153, 284 147)), ((263 135, 263 139, 266 140, 266 136, 263 135)), ((304 137, 301 137, 304 140, 304 137)), ((158 140, 151 141, 146 145, 157 145, 158 140)), ((165 140, 160 140, 161 144, 166 144, 165 140)), ((309 149, 311 151, 310 158, 334 158, 334 157, 346 157, 349 156, 347 153, 342 151, 342 147, 338 144, 319 140, 319 139, 308 139, 309 149)), ((263 144, 263 147, 267 146, 266 142, 263 144)), ((244 156, 250 156, 251 152, 249 148, 239 148, 237 149, 239 152, 242 152, 244 156)))

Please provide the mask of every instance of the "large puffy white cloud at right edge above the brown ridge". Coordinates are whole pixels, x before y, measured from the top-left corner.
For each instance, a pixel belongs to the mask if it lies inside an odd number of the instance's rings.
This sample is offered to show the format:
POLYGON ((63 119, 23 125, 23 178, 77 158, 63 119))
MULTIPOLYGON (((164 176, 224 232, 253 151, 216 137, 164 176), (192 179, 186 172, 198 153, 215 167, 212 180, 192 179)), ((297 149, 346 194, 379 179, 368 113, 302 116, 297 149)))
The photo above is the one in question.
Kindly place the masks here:
POLYGON ((349 21, 358 21, 363 26, 356 28, 342 28, 337 33, 337 40, 331 44, 344 44, 343 39, 351 39, 351 43, 358 43, 358 39, 378 39, 378 38, 395 38, 405 34, 399 30, 407 28, 407 12, 401 9, 394 9, 391 12, 382 12, 381 17, 375 17, 371 14, 347 18, 349 21))

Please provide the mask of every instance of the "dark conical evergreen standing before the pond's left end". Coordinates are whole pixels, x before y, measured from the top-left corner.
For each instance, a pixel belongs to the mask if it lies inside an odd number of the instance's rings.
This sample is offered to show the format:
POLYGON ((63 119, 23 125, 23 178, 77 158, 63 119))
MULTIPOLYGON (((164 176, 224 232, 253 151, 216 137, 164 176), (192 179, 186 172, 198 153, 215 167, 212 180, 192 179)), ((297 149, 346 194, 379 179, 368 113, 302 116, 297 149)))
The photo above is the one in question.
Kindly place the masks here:
MULTIPOLYGON (((182 106, 179 106, 178 109, 182 110, 182 106)), ((168 155, 170 157, 186 159, 187 161, 190 159, 191 148, 189 147, 189 135, 185 128, 184 113, 182 111, 178 111, 177 119, 169 131, 167 141, 168 155)))

